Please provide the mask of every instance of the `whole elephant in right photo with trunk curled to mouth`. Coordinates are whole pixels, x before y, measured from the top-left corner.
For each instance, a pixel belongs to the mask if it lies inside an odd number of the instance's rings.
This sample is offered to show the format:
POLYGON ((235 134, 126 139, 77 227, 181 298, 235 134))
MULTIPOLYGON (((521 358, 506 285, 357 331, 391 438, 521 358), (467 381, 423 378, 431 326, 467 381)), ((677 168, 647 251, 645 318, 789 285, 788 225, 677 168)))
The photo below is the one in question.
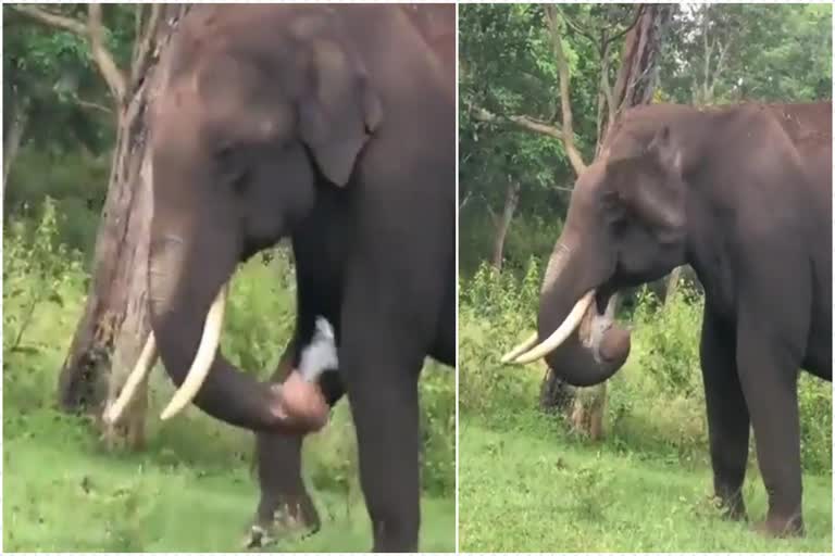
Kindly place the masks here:
POLYGON ((769 500, 756 529, 801 535, 797 380, 832 381, 831 200, 832 102, 630 109, 577 178, 537 332, 504 361, 609 379, 631 348, 607 311, 616 293, 689 264, 715 494, 747 519, 752 427, 769 500))

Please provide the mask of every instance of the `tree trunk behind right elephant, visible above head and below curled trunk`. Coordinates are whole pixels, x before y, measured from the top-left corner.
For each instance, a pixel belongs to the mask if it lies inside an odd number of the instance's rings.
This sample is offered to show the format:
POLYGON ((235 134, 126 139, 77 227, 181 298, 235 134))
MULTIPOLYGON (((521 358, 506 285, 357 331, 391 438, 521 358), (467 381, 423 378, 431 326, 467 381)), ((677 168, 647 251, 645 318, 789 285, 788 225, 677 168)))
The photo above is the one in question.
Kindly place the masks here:
MULTIPOLYGON (((614 121, 625 109, 652 101, 661 38, 670 15, 669 5, 645 4, 637 23, 626 33, 621 66, 611 96, 615 110, 608 111, 614 113, 614 121)), ((601 117, 596 152, 606 141, 614 121, 601 117)), ((606 383, 584 389, 573 388, 549 371, 540 386, 539 407, 544 410, 560 410, 576 432, 597 440, 603 434, 606 383)))

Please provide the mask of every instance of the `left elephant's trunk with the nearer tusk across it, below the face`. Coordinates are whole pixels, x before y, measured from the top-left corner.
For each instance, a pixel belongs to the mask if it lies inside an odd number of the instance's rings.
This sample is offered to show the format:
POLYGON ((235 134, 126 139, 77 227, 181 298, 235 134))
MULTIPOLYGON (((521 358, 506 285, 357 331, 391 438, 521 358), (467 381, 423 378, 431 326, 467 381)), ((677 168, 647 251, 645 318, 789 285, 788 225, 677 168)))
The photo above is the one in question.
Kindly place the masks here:
POLYGON ((238 251, 234 237, 211 229, 195 235, 153 226, 148 269, 151 326, 167 374, 178 387, 186 384, 163 418, 194 401, 212 417, 250 430, 315 430, 324 425, 321 412, 315 422, 290 416, 279 386, 241 372, 219 349, 226 281, 238 251))

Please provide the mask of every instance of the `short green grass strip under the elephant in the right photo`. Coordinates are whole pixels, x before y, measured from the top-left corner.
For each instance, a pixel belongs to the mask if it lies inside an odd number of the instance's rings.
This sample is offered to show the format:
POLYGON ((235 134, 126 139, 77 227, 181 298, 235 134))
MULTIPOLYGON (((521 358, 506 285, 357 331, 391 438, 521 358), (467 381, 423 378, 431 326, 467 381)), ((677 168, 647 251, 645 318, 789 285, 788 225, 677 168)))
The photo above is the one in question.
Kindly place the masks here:
MULTIPOLYGON (((807 536, 775 541, 723 520, 703 466, 616 453, 559 432, 545 416, 494 428, 460 421, 462 552, 831 552, 832 478, 803 477, 807 536)), ((765 513, 749 469, 746 501, 765 513)))

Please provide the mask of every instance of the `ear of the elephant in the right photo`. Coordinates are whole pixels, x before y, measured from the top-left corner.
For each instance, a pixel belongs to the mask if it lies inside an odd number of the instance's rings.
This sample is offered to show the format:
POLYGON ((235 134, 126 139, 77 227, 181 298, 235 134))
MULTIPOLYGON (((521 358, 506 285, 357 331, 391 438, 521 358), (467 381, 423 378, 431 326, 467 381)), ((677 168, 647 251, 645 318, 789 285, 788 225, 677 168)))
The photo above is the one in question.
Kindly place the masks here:
POLYGON ((611 190, 606 202, 649 225, 659 240, 672 241, 684 226, 682 151, 662 127, 637 156, 613 160, 606 175, 611 190))

